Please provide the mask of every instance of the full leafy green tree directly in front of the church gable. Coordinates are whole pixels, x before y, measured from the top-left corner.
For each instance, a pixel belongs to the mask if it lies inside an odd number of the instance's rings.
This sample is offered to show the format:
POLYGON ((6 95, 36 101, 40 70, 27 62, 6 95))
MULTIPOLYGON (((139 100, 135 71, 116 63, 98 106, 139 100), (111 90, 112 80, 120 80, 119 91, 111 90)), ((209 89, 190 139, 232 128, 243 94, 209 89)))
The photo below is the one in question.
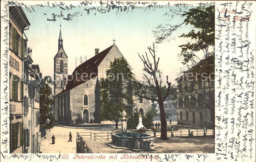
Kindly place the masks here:
POLYGON ((130 81, 134 74, 128 66, 124 58, 116 58, 106 70, 107 78, 100 80, 101 120, 116 121, 116 128, 120 113, 124 109, 127 113, 130 111, 125 105, 132 105, 130 81))

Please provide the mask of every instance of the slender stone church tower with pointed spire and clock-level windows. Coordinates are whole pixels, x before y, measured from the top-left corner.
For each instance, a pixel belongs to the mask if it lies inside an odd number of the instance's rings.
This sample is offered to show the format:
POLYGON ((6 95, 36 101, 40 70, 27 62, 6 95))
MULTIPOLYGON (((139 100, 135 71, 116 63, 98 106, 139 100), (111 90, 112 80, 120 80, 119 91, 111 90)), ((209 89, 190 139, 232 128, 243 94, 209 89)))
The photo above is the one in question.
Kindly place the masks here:
POLYGON ((63 40, 59 36, 58 52, 54 57, 54 95, 60 93, 67 85, 68 77, 68 56, 63 49, 63 40))

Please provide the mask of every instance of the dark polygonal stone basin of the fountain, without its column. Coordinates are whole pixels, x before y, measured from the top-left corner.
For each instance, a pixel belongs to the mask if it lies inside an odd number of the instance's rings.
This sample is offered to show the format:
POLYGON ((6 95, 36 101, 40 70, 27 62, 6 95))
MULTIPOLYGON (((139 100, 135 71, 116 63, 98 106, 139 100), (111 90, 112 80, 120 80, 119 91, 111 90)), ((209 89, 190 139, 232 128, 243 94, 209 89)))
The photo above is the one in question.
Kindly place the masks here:
POLYGON ((112 143, 118 147, 150 149, 154 136, 139 132, 129 132, 112 134, 111 138, 112 143), (136 136, 136 138, 134 136, 136 136))

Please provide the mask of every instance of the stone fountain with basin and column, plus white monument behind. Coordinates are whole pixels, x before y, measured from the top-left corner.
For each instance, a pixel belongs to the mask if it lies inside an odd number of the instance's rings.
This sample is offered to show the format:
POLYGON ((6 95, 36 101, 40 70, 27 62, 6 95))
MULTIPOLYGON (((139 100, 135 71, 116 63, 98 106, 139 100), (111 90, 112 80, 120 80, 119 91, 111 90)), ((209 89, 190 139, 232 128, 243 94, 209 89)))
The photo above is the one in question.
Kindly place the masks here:
MULTIPOLYGON (((151 145, 153 145, 153 142, 154 142, 154 136, 144 134, 144 133, 139 133, 139 132, 127 132, 128 119, 125 118, 126 112, 123 111, 121 115, 123 116, 120 119, 122 123, 122 128, 121 128, 122 133, 112 134, 111 135, 112 143, 109 143, 108 145, 113 148, 126 147, 126 148, 135 149, 135 150, 151 149, 151 145)), ((140 115, 140 118, 139 118, 138 127, 142 125, 141 115, 140 115)), ((142 127, 144 126, 142 125, 142 127)))

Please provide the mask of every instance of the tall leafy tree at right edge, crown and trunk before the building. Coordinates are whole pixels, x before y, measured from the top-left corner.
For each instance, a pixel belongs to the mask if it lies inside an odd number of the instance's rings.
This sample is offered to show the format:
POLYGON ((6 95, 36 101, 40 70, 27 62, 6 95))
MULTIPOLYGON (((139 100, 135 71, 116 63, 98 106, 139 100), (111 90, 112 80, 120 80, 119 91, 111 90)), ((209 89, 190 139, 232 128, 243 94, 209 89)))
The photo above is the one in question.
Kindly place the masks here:
MULTIPOLYGON (((197 100, 210 109, 214 119, 214 86, 211 86, 211 80, 214 80, 214 75, 211 76, 210 74, 214 73, 215 7, 197 7, 189 9, 188 11, 172 8, 167 16, 170 17, 170 21, 167 24, 160 24, 156 30, 153 31, 156 37, 156 43, 170 40, 173 38, 173 32, 182 26, 191 25, 193 27, 187 34, 183 33, 180 35, 180 37, 183 38, 190 38, 190 41, 179 46, 181 47, 179 57, 182 59, 183 65, 187 65, 188 67, 192 66, 187 72, 193 74, 207 74, 208 77, 206 78, 207 84, 204 86, 204 96, 207 97, 208 101, 206 102, 202 99, 197 100), (184 18, 184 21, 180 24, 172 24, 172 19, 175 16, 181 16, 184 18), (200 57, 198 53, 203 53, 203 57, 200 57)), ((200 75, 195 79, 202 81, 200 75)), ((190 96, 194 97, 197 95, 196 90, 188 91, 188 93, 190 93, 190 96)))

